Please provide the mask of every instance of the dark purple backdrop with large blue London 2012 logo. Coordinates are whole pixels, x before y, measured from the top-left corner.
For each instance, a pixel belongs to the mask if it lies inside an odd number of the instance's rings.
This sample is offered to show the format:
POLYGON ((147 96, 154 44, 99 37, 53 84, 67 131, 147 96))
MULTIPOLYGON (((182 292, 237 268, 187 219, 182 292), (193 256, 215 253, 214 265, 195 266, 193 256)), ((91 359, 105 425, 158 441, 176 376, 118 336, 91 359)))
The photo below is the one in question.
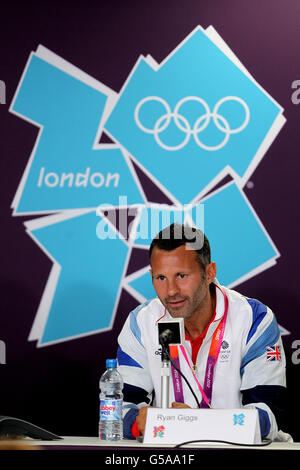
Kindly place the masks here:
POLYGON ((205 230, 276 314, 295 440, 297 0, 1 6, 0 414, 97 435, 98 383, 154 295, 148 246, 205 230))

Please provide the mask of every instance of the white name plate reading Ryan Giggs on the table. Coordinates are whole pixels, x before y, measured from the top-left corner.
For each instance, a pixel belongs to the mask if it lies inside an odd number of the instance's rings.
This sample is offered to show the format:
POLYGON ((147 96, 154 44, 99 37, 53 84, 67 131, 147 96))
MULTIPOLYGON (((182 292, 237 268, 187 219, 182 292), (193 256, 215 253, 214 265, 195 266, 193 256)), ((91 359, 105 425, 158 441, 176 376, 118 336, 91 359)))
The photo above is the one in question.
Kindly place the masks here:
POLYGON ((258 411, 245 408, 148 408, 144 443, 180 444, 197 440, 260 444, 258 411))

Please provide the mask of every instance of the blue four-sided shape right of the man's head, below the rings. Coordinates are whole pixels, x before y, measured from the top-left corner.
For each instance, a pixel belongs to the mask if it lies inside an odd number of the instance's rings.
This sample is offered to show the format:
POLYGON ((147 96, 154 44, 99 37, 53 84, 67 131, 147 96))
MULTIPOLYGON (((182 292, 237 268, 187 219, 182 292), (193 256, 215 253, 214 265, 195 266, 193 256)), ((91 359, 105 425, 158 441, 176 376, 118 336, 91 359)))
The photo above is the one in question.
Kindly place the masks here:
POLYGON ((205 234, 221 284, 228 286, 278 256, 234 183, 201 202, 205 234))

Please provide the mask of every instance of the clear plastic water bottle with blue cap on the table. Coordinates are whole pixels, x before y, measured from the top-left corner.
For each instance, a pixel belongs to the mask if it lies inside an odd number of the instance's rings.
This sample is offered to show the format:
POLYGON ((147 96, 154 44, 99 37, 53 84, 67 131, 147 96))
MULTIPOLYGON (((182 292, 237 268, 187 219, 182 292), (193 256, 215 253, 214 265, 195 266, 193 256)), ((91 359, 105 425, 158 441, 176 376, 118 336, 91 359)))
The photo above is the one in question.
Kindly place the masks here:
POLYGON ((100 378, 99 438, 104 441, 123 439, 123 379, 117 371, 117 360, 106 360, 107 370, 100 378))

